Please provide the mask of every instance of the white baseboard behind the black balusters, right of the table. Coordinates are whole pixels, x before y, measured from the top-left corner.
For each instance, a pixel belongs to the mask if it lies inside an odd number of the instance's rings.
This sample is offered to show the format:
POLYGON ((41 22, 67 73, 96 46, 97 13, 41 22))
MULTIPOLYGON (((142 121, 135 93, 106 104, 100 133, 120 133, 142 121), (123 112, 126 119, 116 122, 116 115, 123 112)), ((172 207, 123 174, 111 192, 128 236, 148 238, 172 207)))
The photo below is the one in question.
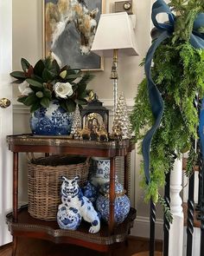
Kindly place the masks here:
MULTIPOLYGON (((163 220, 156 220, 156 240, 163 240, 163 220)), ((150 237, 150 220, 148 217, 137 216, 134 226, 131 228, 131 236, 149 238, 150 237)))

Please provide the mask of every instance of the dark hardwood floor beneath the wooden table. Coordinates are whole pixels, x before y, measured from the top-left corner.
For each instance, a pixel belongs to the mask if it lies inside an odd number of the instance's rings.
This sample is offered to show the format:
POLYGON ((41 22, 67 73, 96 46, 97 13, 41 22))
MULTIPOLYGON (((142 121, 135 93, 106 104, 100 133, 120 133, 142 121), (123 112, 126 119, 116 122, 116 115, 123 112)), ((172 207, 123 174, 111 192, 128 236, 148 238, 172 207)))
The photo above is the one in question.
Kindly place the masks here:
MULTIPOLYGON (((11 256, 11 244, 0 247, 0 256, 11 256)), ((148 240, 142 238, 129 237, 128 243, 116 246, 114 255, 116 256, 131 256, 138 252, 148 251, 148 240)), ((162 252, 162 242, 156 242, 156 251, 162 252)), ((80 246, 71 245, 55 245, 47 240, 35 239, 18 239, 18 247, 16 256, 105 256, 105 253, 98 253, 80 246)), ((139 253, 139 255, 147 255, 148 253, 139 253)))

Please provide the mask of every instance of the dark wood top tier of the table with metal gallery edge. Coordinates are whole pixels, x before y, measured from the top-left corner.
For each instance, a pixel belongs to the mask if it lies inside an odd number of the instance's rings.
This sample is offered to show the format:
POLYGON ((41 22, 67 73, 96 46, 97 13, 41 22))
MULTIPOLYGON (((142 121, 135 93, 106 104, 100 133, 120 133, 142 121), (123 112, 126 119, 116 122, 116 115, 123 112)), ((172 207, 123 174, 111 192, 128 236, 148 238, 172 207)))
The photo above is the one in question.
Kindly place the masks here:
POLYGON ((8 135, 12 152, 41 152, 53 154, 81 154, 104 157, 125 156, 135 148, 134 140, 85 141, 69 136, 8 135))

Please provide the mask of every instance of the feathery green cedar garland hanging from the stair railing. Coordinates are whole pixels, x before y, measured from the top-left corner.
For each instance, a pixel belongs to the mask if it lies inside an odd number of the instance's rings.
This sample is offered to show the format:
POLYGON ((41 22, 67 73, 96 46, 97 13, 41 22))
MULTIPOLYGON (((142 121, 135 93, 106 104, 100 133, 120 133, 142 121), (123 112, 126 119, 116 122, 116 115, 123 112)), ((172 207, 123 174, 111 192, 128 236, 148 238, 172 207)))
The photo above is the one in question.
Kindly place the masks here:
MULTIPOLYGON (((175 158, 189 152, 188 176, 197 160, 193 141, 197 138, 199 117, 194 99, 197 94, 201 98, 204 95, 204 50, 194 49, 189 42, 194 18, 204 12, 203 0, 172 0, 169 5, 178 14, 174 32, 156 49, 151 67, 152 79, 163 97, 164 111, 150 145, 150 182, 144 176, 142 182, 145 199, 160 201, 164 211, 167 209, 159 188, 164 186, 165 174, 172 170, 175 158)), ((144 78, 138 85, 131 114, 136 142, 143 140, 154 121, 144 78)), ((143 169, 143 162, 141 166, 143 169)))

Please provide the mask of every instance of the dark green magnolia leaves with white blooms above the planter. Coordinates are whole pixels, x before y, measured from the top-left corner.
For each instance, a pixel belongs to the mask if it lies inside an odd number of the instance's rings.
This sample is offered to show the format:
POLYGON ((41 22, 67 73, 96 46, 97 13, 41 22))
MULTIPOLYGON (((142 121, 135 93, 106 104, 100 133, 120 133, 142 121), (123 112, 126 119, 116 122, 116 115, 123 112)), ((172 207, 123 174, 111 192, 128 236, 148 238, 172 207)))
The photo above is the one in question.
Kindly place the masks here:
POLYGON ((92 79, 91 74, 83 75, 80 69, 67 65, 61 68, 51 56, 39 60, 34 67, 24 58, 21 64, 22 71, 10 75, 16 78, 13 83, 19 84, 21 95, 17 101, 29 106, 31 113, 41 107, 48 108, 54 99, 59 100, 67 112, 73 112, 77 104, 87 103, 90 90, 86 85, 92 79))

